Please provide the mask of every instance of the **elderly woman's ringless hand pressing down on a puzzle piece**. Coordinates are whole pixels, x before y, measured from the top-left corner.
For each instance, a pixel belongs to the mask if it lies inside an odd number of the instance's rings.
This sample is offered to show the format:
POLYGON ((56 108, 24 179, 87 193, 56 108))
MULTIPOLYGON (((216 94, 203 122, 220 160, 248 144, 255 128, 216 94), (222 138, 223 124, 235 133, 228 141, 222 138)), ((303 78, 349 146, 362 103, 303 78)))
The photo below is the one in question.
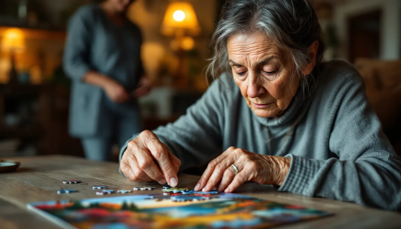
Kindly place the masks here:
POLYGON ((175 187, 178 184, 180 165, 181 161, 160 142, 156 134, 145 130, 128 142, 128 148, 121 158, 120 170, 132 181, 156 180, 160 184, 167 181, 175 187))

